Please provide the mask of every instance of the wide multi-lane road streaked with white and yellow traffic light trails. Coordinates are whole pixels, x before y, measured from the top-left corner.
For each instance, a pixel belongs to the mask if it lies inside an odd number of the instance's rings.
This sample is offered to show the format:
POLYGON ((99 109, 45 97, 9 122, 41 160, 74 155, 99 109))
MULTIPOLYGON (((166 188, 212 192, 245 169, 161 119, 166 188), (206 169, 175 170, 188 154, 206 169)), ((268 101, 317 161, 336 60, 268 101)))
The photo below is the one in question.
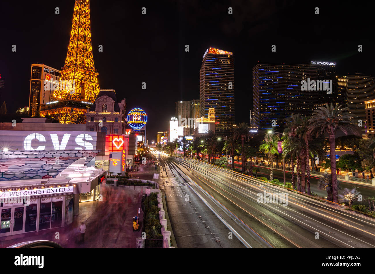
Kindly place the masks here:
POLYGON ((164 185, 183 198, 166 197, 178 247, 375 247, 371 217, 195 159, 158 158, 180 182, 164 185))

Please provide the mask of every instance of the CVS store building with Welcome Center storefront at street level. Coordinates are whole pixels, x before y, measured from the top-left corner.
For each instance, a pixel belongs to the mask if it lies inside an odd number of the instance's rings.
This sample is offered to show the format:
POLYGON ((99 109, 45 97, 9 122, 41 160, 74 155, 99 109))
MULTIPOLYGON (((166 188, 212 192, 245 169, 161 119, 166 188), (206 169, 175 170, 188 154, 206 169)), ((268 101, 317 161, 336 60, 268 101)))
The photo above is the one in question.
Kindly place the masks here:
POLYGON ((103 134, 80 125, 8 124, 0 123, 0 237, 69 225, 80 202, 99 200, 106 171, 94 162, 103 134))

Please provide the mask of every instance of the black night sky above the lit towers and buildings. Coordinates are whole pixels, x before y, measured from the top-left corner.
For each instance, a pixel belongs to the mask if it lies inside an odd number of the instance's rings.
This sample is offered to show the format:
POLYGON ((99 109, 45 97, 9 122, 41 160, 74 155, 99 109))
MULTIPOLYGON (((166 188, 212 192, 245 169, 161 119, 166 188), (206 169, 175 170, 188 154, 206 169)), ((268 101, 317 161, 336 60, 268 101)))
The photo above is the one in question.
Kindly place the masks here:
MULTIPOLYGON (((74 0, 21 3, 0 3, 0 104, 5 101, 8 112, 28 106, 32 63, 64 65, 73 18, 74 0)), ((199 99, 199 69, 209 47, 234 54, 236 122, 249 123, 258 61, 328 61, 339 74, 375 74, 370 2, 92 0, 90 7, 99 86, 115 89, 118 101, 126 98, 126 112, 145 110, 149 143, 156 131, 169 129, 175 101, 199 99)))

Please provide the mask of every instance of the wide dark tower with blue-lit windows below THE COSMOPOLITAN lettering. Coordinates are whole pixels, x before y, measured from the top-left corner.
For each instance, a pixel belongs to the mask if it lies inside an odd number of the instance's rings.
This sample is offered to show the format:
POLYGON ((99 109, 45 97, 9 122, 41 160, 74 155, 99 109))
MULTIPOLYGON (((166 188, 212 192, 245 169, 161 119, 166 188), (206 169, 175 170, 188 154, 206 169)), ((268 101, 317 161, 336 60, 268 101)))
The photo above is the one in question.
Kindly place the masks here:
POLYGON ((257 64, 253 68, 255 125, 260 130, 282 130, 284 118, 294 113, 309 116, 318 106, 331 102, 335 104, 341 100, 335 73, 335 65, 332 64, 257 64), (302 90, 302 80, 332 80, 332 93, 326 90, 302 90), (276 121, 275 127, 273 120, 276 121))

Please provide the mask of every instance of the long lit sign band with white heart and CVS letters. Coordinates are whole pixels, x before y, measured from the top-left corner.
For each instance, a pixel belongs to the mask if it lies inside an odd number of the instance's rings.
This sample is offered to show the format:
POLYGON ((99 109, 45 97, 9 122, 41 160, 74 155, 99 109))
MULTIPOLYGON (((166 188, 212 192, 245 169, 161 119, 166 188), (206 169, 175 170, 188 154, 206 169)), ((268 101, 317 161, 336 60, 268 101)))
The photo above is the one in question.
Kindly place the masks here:
POLYGON ((9 150, 92 150, 96 149, 92 131, 18 131, 1 130, 0 147, 9 150))

